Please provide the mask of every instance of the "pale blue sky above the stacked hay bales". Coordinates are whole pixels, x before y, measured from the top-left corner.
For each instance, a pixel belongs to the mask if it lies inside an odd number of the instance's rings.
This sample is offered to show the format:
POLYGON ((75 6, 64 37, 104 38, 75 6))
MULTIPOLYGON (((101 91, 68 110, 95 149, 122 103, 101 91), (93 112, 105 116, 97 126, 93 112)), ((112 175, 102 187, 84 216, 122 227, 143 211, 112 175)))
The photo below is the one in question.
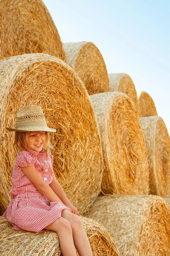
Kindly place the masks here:
POLYGON ((170 1, 43 0, 63 43, 91 41, 108 73, 127 73, 170 134, 170 1))

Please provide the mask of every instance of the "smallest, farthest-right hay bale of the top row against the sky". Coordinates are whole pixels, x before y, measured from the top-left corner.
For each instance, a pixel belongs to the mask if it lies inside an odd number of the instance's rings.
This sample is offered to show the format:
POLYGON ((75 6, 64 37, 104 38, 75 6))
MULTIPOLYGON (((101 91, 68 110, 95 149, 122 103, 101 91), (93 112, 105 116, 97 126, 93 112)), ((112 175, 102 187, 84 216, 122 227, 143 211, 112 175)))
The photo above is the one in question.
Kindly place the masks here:
POLYGON ((153 99, 150 97, 149 93, 142 91, 139 94, 139 116, 157 116, 158 113, 156 111, 155 103, 153 99))

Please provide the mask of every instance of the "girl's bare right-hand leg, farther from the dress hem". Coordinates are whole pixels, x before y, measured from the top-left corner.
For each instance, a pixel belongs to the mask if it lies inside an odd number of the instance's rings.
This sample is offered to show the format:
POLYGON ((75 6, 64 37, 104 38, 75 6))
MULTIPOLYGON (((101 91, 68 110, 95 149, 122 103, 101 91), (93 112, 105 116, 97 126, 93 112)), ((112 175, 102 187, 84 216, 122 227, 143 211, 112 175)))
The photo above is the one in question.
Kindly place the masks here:
POLYGON ((79 256, 92 256, 90 243, 88 241, 88 237, 85 233, 85 230, 82 227, 79 216, 69 211, 62 211, 61 215, 71 224, 74 244, 79 253, 79 256))

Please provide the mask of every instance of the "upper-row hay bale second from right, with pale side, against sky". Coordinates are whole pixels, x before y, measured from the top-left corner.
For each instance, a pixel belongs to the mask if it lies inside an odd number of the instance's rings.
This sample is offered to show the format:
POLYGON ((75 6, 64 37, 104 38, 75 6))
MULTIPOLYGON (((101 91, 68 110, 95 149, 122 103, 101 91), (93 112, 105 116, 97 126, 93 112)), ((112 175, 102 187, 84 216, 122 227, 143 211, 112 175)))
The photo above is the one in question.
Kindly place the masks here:
POLYGON ((125 93, 129 96, 139 113, 138 97, 131 77, 126 73, 108 74, 108 77, 110 91, 125 93))

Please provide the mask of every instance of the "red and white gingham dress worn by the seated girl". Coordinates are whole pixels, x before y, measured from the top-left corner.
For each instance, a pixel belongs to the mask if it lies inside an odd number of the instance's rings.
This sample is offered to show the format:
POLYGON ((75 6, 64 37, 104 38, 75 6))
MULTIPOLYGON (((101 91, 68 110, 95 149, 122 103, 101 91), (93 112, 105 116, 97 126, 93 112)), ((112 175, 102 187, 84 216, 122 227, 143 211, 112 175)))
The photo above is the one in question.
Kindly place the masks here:
POLYGON ((48 154, 43 175, 42 166, 46 161, 46 151, 42 149, 41 152, 33 150, 31 152, 20 151, 16 157, 12 172, 12 186, 9 192, 13 199, 3 213, 3 217, 14 224, 14 230, 40 232, 60 218, 62 210, 66 207, 59 202, 51 202, 45 198, 20 168, 20 166, 35 166, 44 182, 51 183, 53 179, 53 156, 48 154))

